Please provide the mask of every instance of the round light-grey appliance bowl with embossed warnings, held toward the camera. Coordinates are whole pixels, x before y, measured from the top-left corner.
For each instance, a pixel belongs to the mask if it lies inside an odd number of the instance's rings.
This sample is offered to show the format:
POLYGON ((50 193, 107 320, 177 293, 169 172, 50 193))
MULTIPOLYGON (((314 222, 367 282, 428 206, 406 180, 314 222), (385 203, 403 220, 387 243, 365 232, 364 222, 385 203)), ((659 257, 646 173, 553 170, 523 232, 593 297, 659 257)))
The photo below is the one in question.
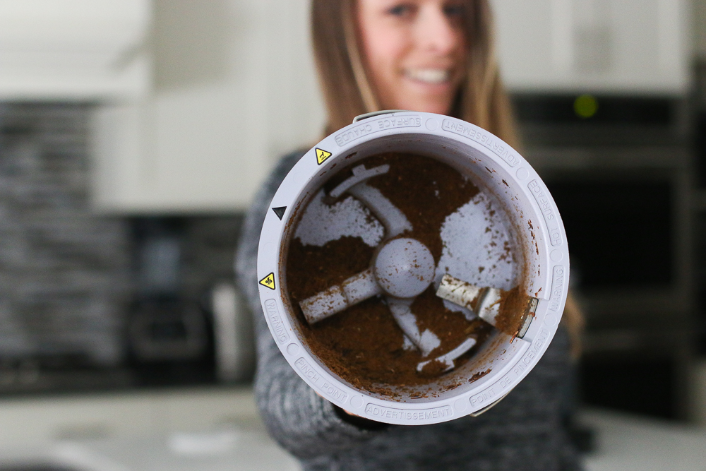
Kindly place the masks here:
MULTIPOLYGON (((419 190, 401 177, 393 186, 390 191, 397 194, 419 190)), ((447 191, 442 186, 436 193, 440 200, 447 191)), ((349 412, 390 424, 478 415, 525 378, 556 332, 568 292, 561 217, 525 159, 478 126, 429 113, 363 115, 301 157, 270 208, 258 250, 258 288, 268 326, 294 371, 349 412), (417 237, 414 221, 420 219, 409 208, 402 210, 404 198, 393 198, 373 184, 405 167, 403 161, 374 160, 383 153, 414 155, 429 168, 449 167, 477 187, 432 234, 443 241, 441 256, 431 254, 429 244, 417 237), (370 239, 369 269, 345 280, 323 280, 322 290, 293 301, 288 284, 296 280, 287 273, 297 268, 289 258, 295 244, 323 247, 324 263, 332 255, 326 253, 330 242, 342 237, 370 239), (505 248, 504 258, 498 246, 505 248), (429 290, 443 298, 448 311, 495 326, 489 338, 475 345, 477 338, 468 335, 438 355, 438 338, 430 339, 414 305, 429 290), (503 296, 513 290, 522 302, 510 306, 503 296), (342 374, 320 354, 311 326, 370 299, 388 306, 404 333, 405 350, 418 352, 423 360, 417 371, 433 365, 438 374, 417 385, 371 386, 342 374), (510 306, 515 319, 510 330, 499 321, 503 306, 510 306), (464 357, 467 361, 460 361, 464 357)), ((438 216, 435 203, 418 209, 422 221, 438 216)))

